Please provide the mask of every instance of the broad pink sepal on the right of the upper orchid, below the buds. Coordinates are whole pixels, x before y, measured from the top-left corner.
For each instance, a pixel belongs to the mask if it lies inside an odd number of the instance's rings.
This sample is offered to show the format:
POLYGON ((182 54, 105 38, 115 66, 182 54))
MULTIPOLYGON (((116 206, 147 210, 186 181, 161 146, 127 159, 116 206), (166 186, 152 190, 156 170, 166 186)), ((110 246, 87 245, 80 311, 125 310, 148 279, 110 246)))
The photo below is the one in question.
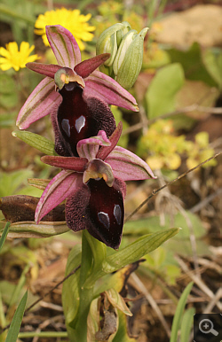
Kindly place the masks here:
POLYGON ((139 111, 136 99, 107 74, 96 70, 84 81, 85 97, 99 97, 108 105, 117 105, 134 112, 139 111))

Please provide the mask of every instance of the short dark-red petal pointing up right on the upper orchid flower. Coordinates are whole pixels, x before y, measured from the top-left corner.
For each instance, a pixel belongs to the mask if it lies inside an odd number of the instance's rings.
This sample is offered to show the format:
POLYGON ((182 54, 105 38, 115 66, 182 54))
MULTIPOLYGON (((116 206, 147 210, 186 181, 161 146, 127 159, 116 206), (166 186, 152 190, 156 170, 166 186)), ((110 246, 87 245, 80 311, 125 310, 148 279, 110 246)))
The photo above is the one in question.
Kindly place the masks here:
POLYGON ((102 53, 101 55, 83 60, 83 62, 75 66, 74 71, 83 78, 88 77, 94 70, 101 66, 101 64, 106 62, 109 57, 110 53, 102 53))

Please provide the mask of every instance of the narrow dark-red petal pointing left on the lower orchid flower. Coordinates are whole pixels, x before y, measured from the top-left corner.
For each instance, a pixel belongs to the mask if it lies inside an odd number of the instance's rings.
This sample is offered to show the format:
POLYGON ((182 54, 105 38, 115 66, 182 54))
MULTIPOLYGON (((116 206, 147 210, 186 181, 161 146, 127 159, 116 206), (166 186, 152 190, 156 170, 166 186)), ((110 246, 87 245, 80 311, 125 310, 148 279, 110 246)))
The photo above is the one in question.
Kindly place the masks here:
POLYGON ((76 172, 83 172, 88 162, 85 158, 60 156, 44 156, 41 160, 52 167, 61 167, 76 172))

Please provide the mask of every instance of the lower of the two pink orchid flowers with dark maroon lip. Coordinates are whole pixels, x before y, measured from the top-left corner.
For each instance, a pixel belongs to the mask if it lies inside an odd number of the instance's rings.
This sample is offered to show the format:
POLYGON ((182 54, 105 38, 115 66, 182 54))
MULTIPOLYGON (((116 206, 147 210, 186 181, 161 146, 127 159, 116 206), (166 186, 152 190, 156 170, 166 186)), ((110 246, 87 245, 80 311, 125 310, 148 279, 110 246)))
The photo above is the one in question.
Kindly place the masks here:
POLYGON ((44 156, 42 161, 63 170, 47 185, 36 206, 36 223, 66 200, 67 227, 87 229, 107 246, 117 249, 123 232, 125 181, 155 178, 147 163, 134 153, 116 146, 122 123, 110 138, 98 136, 80 140, 80 157, 44 156))

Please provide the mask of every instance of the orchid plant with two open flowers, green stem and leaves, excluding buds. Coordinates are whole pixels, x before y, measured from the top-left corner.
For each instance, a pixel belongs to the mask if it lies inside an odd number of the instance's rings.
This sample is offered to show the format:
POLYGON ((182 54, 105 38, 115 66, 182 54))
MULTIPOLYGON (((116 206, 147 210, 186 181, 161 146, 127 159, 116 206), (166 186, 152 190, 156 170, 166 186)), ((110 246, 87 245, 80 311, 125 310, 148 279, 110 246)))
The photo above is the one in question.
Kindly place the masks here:
MULTIPOLYGON (((25 129, 50 114, 55 135, 53 148, 58 154, 45 155, 42 161, 62 170, 52 181, 36 181, 44 192, 37 201, 28 198, 28 212, 23 210, 26 198, 20 196, 3 198, 0 209, 6 220, 13 222, 12 227, 17 227, 16 237, 21 226, 20 236, 28 237, 31 227, 30 236, 35 229, 39 236, 42 229, 44 237, 46 216, 52 221, 59 207, 59 217, 64 217, 65 208, 63 231, 83 230, 82 246, 75 245, 68 256, 69 277, 62 292, 70 341, 120 341, 121 334, 124 340, 130 340, 123 329, 123 317, 131 312, 119 294, 125 273, 129 275, 131 263, 163 244, 178 229, 139 237, 121 247, 125 181, 147 180, 155 175, 144 160, 116 145, 123 127, 121 122, 116 127, 108 105, 138 111, 137 102, 118 82, 96 70, 110 57, 109 53, 81 62, 79 47, 66 28, 47 26, 46 35, 58 65, 28 63, 29 69, 46 77, 21 108, 17 125, 25 129), (65 206, 60 206, 63 201, 65 206), (17 206, 19 209, 15 210, 17 206), (108 317, 114 323, 111 330, 108 317), (118 328, 119 323, 123 331, 118 328)), ((35 139, 36 147, 46 152, 45 138, 35 139)), ((50 231, 47 227, 47 236, 50 231)))

